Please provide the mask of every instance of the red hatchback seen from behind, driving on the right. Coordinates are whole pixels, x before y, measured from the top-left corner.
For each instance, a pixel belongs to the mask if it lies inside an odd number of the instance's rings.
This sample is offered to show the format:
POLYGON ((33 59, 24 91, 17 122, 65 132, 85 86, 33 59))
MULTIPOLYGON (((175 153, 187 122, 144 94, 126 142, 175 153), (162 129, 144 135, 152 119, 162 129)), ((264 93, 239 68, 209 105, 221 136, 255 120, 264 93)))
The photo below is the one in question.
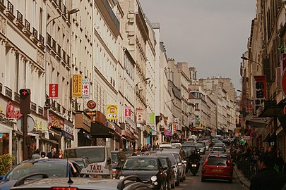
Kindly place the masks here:
POLYGON ((201 181, 205 179, 225 179, 232 182, 233 164, 226 153, 210 153, 203 164, 201 181))

